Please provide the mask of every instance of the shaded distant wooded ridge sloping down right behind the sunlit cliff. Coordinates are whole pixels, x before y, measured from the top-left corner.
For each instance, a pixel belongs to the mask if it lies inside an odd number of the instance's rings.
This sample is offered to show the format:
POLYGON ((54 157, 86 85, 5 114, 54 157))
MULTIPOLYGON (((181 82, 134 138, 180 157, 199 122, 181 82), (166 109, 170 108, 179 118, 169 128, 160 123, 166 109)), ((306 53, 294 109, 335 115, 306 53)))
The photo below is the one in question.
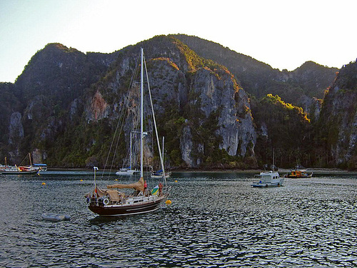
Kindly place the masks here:
POLYGON ((248 94, 258 98, 266 94, 279 95, 286 102, 301 106, 307 112, 316 111, 314 98, 323 98, 323 91, 331 85, 338 71, 313 61, 306 61, 293 71, 278 71, 251 56, 212 41, 184 34, 174 36, 198 55, 226 66, 248 94))

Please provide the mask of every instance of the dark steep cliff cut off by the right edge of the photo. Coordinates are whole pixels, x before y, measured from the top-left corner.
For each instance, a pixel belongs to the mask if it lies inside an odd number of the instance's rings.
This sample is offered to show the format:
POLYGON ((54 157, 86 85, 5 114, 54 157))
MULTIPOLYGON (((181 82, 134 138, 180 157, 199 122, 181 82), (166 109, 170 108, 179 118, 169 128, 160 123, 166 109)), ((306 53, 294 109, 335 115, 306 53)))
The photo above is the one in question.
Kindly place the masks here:
POLYGON ((323 100, 321 136, 335 166, 357 168, 357 63, 338 72, 323 100))

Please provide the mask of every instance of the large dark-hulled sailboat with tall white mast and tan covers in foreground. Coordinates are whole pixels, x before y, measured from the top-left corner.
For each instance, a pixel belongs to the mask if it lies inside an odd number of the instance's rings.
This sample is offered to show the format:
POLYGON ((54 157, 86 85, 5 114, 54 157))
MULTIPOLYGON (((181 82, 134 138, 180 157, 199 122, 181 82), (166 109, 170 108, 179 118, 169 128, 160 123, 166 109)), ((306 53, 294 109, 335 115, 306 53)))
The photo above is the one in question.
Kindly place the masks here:
MULTIPOLYGON (((169 188, 164 177, 164 184, 161 182, 151 191, 147 189, 146 181, 144 181, 144 138, 147 132, 144 131, 144 49, 141 49, 141 83, 140 83, 140 179, 131 184, 110 184, 106 189, 101 189, 96 182, 96 170, 94 167, 94 190, 86 195, 89 209, 101 216, 125 216, 133 214, 141 214, 153 212, 159 209, 161 204, 169 196, 169 188), (119 189, 131 189, 131 194, 119 192, 119 189), (133 192, 134 190, 134 192, 133 192)), ((146 69, 146 65, 145 65, 146 69)), ((149 79, 146 71, 146 80, 148 81, 149 96, 151 99, 149 79)), ((151 103, 151 112, 154 119, 154 128, 156 139, 159 141, 159 135, 156 128, 154 108, 151 103)), ((159 144, 159 142, 158 142, 159 144)), ((164 170, 164 159, 162 158, 161 149, 159 156, 161 159, 161 167, 164 170)))

